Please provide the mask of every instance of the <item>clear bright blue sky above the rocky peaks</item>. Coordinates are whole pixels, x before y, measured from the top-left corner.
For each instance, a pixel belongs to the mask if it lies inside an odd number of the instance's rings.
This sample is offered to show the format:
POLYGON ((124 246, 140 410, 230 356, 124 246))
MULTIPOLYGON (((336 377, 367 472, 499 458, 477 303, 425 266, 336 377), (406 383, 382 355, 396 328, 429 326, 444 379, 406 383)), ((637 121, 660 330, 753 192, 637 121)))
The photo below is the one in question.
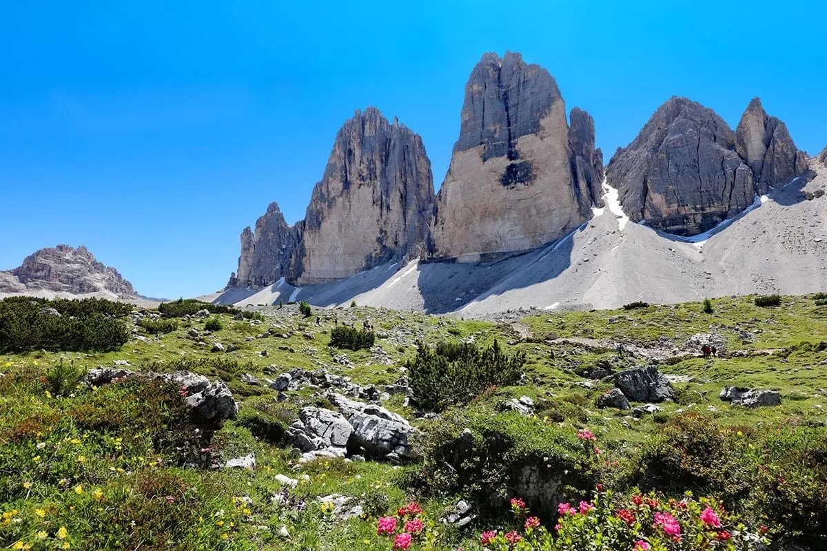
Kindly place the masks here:
POLYGON ((422 135, 438 187, 485 51, 548 69, 607 161, 672 95, 733 127, 760 96, 815 154, 825 20, 816 1, 0 0, 0 269, 84 244, 143 294, 213 292, 269 202, 304 216, 357 108, 422 135))

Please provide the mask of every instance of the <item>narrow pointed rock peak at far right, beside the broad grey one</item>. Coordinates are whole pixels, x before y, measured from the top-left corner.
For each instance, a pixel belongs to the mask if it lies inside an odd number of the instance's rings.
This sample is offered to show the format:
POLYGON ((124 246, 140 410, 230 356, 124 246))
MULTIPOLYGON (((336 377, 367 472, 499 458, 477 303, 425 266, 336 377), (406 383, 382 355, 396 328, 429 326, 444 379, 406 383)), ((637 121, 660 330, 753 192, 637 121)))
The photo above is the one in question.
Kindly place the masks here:
POLYGON ((796 149, 786 125, 768 116, 756 97, 749 102, 735 131, 735 149, 753 171, 759 194, 769 188, 790 183, 807 169, 807 158, 796 149))

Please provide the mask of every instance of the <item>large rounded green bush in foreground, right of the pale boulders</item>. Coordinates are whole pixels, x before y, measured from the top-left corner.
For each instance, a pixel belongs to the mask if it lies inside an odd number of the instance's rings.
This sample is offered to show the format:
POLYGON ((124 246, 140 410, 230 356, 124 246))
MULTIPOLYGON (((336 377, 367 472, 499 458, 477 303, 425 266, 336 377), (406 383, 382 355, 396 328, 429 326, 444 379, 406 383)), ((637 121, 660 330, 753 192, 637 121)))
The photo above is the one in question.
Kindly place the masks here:
POLYGON ((410 483, 436 495, 459 493, 496 501, 492 498, 515 492, 526 468, 533 469, 533 483, 562 481, 563 494, 579 495, 592 487, 594 453, 575 430, 514 411, 495 411, 480 401, 449 408, 423 425, 414 449, 422 463, 410 483), (461 436, 466 429, 470 435, 461 436))

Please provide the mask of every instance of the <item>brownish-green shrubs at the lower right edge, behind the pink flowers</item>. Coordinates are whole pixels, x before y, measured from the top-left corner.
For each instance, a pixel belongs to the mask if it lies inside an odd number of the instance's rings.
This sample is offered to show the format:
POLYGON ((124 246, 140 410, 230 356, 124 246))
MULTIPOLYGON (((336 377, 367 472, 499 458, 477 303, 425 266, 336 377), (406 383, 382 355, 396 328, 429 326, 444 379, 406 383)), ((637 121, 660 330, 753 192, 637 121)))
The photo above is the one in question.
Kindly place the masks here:
POLYGON ((789 536, 827 534, 827 435, 823 429, 754 430, 677 416, 643 446, 630 484, 672 495, 719 497, 750 523, 789 536))

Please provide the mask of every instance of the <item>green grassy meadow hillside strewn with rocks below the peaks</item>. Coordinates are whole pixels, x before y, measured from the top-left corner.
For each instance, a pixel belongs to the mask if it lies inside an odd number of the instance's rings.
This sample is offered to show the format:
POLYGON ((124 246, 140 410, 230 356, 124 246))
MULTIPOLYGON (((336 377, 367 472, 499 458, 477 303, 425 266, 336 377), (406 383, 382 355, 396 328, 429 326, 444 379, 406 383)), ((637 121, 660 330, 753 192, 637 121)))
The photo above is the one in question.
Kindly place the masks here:
MULTIPOLYGON (((121 318, 131 338, 115 351, 3 353, 0 546, 391 549, 391 540, 376 534, 377 518, 415 500, 433 525, 426 522, 430 541, 414 540, 411 549, 477 549, 481 530, 513 527, 514 479, 506 473, 542 458, 563 481, 554 492, 574 502, 589 500, 595 484, 676 498, 691 490, 724 500, 750 526, 767 525, 774 539, 823 549, 827 306, 814 297, 783 297, 780 306, 759 307, 753 298, 715 300, 712 313, 687 303, 544 313, 503 325, 365 307, 307 317, 298 305, 258 308, 247 317, 135 311, 121 318), (210 320, 221 329, 205 330, 210 320), (374 347, 328 346, 334 327, 361 328, 365 321, 375 330, 374 347), (699 346, 687 344, 696 333, 719 335, 725 347, 703 359, 699 346), (413 401, 406 405, 402 394, 381 402, 422 431, 421 460, 299 465, 291 455, 284 430, 299 410, 333 407, 325 389, 307 386, 277 402, 265 379, 290 368, 324 369, 381 391, 410 374, 405 363, 414 361, 420 341, 482 348, 495 340, 505 354, 525 356, 516 386, 469 396, 436 419, 420 415, 413 401), (90 368, 124 362, 137 372, 185 369, 220 378, 240 402, 239 415, 209 439, 174 386, 140 379, 77 384, 90 368), (649 363, 675 376, 674 401, 639 417, 595 405, 613 386, 586 377, 595 367, 649 363), (719 400, 724 386, 775 390, 782 404, 733 406, 719 400), (523 396, 533 399, 533 414, 505 411, 523 396), (474 453, 447 467, 463 428, 475 435, 474 453), (594 440, 577 437, 586 429, 594 440), (198 454, 214 468, 184 467, 198 454), (249 454, 255 468, 218 468, 249 454), (285 488, 279 474, 298 485, 285 488), (334 494, 351 497, 361 515, 343 520, 334 494), (461 528, 439 522, 463 497, 476 520, 461 528)), ((543 525, 556 524, 554 511, 538 513, 543 525)))

